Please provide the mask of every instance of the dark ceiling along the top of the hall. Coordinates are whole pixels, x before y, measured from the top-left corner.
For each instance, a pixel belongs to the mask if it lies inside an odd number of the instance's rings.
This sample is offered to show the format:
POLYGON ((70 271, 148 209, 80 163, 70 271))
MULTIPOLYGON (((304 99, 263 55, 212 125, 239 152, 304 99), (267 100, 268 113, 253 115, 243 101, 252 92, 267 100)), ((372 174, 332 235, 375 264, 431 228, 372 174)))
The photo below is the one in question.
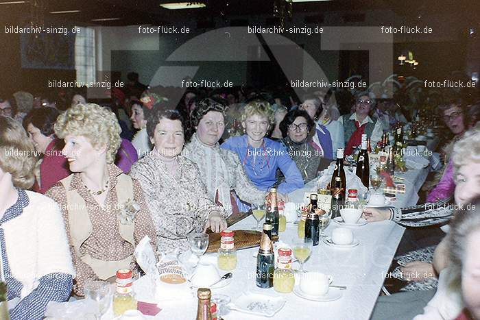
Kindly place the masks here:
MULTIPOLYGON (((12 0, 0 0, 1 2, 12 0)), ((33 1, 33 0, 32 0, 33 1)), ((165 25, 178 21, 208 21, 224 19, 226 23, 235 16, 254 14, 272 15, 274 0, 204 0, 206 8, 191 10, 167 10, 160 3, 186 0, 36 0, 47 3, 45 21, 49 23, 69 23, 77 25, 165 25), (81 10, 73 14, 49 14, 51 11, 81 10), (92 19, 120 18, 117 21, 93 22, 92 19)), ((306 3, 293 3, 293 14, 306 12, 322 14, 328 11, 343 11, 352 14, 367 10, 392 10, 400 16, 422 16, 431 13, 459 13, 479 21, 473 12, 479 8, 478 0, 333 0, 306 3)), ((0 22, 12 23, 29 21, 29 2, 0 5, 0 22)), ((474 21, 470 21, 474 22, 474 21)))

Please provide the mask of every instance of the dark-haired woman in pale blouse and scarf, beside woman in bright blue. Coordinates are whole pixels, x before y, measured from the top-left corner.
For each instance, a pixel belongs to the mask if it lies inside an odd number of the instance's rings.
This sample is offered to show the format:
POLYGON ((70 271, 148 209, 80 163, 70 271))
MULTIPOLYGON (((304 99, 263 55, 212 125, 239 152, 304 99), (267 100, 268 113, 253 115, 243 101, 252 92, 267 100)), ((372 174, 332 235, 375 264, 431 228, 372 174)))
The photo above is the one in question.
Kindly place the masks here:
POLYGON ((252 184, 237 154, 219 146, 225 130, 225 111, 226 107, 213 99, 198 103, 192 115, 196 132, 184 153, 200 169, 210 198, 232 214, 248 210, 245 202, 263 204, 265 192, 252 184))

